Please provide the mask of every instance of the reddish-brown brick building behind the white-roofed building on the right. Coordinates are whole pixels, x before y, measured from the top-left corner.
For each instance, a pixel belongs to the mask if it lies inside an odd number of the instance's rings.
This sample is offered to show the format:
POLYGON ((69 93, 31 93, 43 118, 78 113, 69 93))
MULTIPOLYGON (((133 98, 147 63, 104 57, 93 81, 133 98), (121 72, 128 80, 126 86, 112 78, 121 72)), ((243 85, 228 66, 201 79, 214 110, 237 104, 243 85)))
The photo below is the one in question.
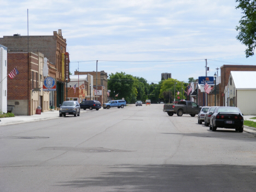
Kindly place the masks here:
POLYGON ((219 104, 225 106, 225 86, 228 85, 231 71, 256 71, 255 65, 223 65, 220 67, 221 82, 219 86, 219 104))

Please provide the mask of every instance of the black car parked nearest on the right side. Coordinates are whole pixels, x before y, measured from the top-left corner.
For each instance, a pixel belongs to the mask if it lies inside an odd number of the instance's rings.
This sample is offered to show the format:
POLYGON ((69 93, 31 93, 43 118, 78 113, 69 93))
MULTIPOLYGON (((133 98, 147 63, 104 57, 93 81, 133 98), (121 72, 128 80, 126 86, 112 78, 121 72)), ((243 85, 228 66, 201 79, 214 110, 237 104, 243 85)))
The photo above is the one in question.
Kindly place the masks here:
POLYGON ((237 107, 216 107, 210 112, 210 130, 216 131, 219 128, 235 129, 243 132, 243 114, 237 107))

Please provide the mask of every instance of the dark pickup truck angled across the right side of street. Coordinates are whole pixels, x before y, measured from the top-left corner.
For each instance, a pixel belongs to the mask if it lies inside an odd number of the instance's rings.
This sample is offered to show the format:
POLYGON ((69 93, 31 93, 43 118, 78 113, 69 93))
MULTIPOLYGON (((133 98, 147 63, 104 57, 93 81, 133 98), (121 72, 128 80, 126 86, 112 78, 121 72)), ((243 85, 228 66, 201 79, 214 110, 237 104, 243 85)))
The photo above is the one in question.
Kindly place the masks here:
POLYGON ((164 104, 164 112, 167 112, 169 116, 177 114, 182 116, 183 114, 190 114, 191 117, 195 117, 202 107, 199 107, 193 101, 179 101, 178 104, 164 104))

